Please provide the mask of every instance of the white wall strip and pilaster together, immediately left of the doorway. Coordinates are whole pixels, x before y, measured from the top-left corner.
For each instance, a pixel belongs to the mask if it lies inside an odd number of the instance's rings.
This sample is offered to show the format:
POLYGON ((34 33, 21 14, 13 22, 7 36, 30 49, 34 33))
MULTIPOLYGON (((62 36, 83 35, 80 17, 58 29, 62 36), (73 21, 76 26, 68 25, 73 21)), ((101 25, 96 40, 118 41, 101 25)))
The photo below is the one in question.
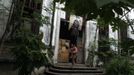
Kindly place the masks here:
MULTIPOLYGON (((51 9, 53 7, 52 5, 53 0, 43 0, 43 5, 42 5, 42 15, 44 16, 49 16, 50 18, 50 23, 52 22, 52 13, 53 11, 46 12, 44 10, 44 7, 51 9)), ((43 32, 43 39, 42 41, 45 43, 45 45, 49 45, 50 41, 52 41, 52 46, 54 46, 54 57, 53 60, 56 63, 57 62, 57 57, 58 57, 58 43, 59 43, 59 33, 60 33, 60 19, 63 18, 65 19, 66 13, 59 8, 63 8, 64 4, 58 4, 56 3, 56 8, 55 8, 55 15, 54 15, 54 28, 53 28, 53 34, 52 34, 52 40, 50 40, 50 33, 51 33, 51 25, 43 25, 40 27, 40 31, 43 32)))

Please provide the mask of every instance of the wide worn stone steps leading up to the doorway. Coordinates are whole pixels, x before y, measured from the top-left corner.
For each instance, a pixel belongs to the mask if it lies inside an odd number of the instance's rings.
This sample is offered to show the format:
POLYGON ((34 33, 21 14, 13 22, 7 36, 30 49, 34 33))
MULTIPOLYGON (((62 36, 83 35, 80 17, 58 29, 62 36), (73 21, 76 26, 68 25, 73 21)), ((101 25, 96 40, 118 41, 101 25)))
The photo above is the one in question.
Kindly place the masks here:
POLYGON ((101 68, 87 67, 84 64, 60 63, 48 68, 45 75, 104 75, 101 68))

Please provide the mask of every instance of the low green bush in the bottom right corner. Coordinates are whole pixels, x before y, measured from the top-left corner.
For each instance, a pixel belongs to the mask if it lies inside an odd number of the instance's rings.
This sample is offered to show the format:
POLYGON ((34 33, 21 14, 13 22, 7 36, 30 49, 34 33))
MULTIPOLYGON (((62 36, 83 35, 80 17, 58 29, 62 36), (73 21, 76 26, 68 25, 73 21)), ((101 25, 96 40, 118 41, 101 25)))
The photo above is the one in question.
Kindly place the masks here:
POLYGON ((134 64, 130 58, 116 57, 106 65, 105 75, 134 75, 134 64))

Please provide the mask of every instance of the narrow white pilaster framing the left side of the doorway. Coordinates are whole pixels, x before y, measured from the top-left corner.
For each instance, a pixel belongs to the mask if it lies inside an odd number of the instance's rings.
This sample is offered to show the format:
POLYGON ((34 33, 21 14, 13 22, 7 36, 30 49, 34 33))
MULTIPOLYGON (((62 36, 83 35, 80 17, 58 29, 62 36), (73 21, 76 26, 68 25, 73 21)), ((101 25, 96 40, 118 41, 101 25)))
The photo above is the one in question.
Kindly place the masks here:
POLYGON ((59 49, 59 35, 60 35, 60 21, 61 18, 65 19, 66 13, 60 8, 63 8, 62 4, 56 3, 56 10, 55 10, 55 16, 54 16, 54 31, 53 31, 53 46, 55 46, 54 49, 54 63, 57 63, 58 61, 58 49, 59 49))

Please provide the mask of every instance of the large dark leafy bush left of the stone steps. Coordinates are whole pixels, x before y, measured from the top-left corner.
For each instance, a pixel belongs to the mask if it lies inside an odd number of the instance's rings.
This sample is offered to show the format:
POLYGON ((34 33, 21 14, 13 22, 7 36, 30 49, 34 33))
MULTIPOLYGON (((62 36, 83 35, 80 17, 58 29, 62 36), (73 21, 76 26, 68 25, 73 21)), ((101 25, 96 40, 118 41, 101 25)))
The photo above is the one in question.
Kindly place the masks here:
POLYGON ((18 75, 30 75, 34 68, 52 64, 53 53, 41 40, 42 34, 34 35, 24 30, 17 33, 11 53, 15 58, 18 75))

